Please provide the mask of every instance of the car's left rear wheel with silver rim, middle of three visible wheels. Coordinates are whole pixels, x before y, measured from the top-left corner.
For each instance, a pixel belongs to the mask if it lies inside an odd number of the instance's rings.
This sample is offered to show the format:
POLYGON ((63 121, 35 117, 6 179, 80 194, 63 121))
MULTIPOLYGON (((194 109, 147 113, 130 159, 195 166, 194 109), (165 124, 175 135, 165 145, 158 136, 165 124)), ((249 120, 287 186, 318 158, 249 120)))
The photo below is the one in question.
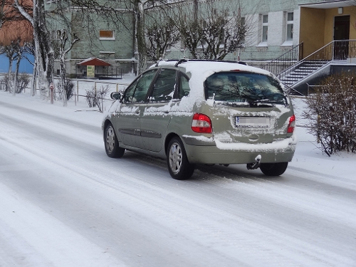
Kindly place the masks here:
POLYGON ((194 172, 194 164, 190 164, 182 140, 173 137, 167 150, 167 165, 171 177, 177 180, 189 179, 194 172))

